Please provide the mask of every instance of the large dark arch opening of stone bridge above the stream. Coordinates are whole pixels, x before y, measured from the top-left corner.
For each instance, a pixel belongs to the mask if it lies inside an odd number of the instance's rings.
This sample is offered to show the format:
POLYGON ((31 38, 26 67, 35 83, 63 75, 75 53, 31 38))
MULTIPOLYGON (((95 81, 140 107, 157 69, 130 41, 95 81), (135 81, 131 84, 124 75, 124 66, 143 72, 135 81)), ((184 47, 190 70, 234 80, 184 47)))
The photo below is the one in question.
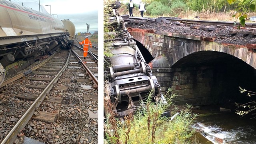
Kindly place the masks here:
POLYGON ((256 92, 256 70, 230 54, 200 51, 189 54, 171 66, 171 86, 188 104, 245 103, 256 98, 241 94, 243 89, 256 92))

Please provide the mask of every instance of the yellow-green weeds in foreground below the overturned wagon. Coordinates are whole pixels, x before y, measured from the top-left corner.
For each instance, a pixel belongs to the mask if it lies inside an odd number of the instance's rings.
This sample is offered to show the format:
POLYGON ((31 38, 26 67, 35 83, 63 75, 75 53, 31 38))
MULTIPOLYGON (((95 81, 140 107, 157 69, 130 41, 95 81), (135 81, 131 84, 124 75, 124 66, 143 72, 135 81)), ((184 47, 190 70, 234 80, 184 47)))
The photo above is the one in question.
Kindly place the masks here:
MULTIPOLYGON (((105 90, 105 94, 108 94, 108 90, 105 90)), ((170 93, 169 89, 165 97, 170 93)), ((105 108, 112 112, 108 113, 104 123, 104 143, 196 143, 193 141, 194 130, 190 128, 196 115, 191 114, 190 106, 183 110, 176 108, 171 102, 174 94, 167 100, 168 104, 163 104, 160 100, 152 102, 151 95, 152 93, 148 95, 144 106, 126 116, 124 122, 115 118, 112 111, 115 104, 110 104, 109 97, 105 96, 104 106, 107 104, 105 108), (170 106, 174 107, 171 110, 172 115, 179 112, 173 120, 161 116, 170 106)))

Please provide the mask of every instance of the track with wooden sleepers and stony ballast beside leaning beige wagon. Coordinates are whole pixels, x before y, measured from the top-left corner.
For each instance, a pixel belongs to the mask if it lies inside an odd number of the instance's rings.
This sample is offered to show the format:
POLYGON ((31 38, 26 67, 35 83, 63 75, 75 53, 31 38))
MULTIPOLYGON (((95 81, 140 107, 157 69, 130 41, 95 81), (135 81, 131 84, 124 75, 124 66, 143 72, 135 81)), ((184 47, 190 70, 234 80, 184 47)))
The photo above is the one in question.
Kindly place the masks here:
POLYGON ((98 80, 85 70, 86 65, 92 66, 84 64, 78 53, 61 50, 4 81, 1 144, 26 141, 27 137, 44 143, 98 143, 98 80))

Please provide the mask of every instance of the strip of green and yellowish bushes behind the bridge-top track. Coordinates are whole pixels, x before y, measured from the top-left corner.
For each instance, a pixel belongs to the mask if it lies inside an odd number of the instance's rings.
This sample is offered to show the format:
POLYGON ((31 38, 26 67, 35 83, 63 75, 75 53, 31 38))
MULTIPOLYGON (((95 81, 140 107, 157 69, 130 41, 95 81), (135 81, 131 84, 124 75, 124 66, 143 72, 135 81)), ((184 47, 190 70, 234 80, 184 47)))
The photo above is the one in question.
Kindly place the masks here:
POLYGON ((254 0, 143 0, 146 3, 148 14, 173 15, 193 10, 196 12, 227 12, 230 10, 254 12, 249 5, 254 5, 254 0))

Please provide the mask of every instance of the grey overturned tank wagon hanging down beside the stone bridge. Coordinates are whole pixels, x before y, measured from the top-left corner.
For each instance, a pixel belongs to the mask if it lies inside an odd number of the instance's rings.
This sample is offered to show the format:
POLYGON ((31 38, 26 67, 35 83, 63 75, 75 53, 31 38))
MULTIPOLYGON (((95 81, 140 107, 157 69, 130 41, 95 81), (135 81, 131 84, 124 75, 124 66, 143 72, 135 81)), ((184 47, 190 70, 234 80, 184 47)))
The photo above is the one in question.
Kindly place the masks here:
MULTIPOLYGON (((111 35, 112 38, 105 42, 110 42, 113 56, 105 57, 106 64, 110 65, 105 68, 105 71, 109 82, 110 101, 117 103, 113 110, 118 117, 123 117, 137 110, 150 91, 152 91, 152 98, 159 98, 164 103, 166 100, 156 76, 152 74, 150 66, 126 29, 124 20, 118 16, 118 6, 120 5, 112 5, 113 13, 108 14, 110 16, 108 25, 112 32, 107 35, 111 35), (128 105, 131 108, 128 108, 128 105)), ((105 114, 108 113, 106 109, 104 109, 105 114)))

